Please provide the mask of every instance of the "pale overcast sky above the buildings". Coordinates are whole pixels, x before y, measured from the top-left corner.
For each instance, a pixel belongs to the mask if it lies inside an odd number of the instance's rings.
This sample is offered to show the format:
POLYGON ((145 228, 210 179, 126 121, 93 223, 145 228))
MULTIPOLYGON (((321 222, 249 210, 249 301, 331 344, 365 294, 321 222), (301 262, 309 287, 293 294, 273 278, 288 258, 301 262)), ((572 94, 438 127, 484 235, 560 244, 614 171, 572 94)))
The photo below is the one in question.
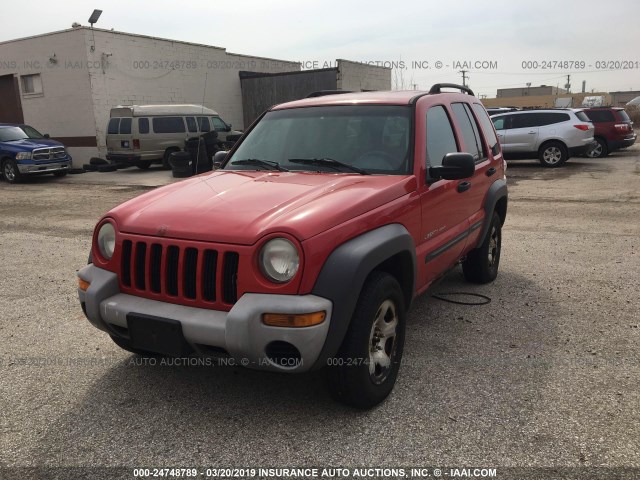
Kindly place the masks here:
POLYGON ((637 0, 21 0, 3 2, 0 41, 66 29, 73 22, 87 25, 94 8, 104 11, 96 27, 309 67, 337 58, 402 62, 405 68, 393 77, 405 88, 461 83, 458 71, 465 69, 476 94, 489 97, 496 88, 527 82, 563 87, 567 74, 574 92, 583 80, 587 91, 640 90, 637 0), (477 61, 489 63, 483 68, 477 61), (523 68, 536 66, 523 62, 536 61, 537 69, 523 68), (546 61, 584 64, 543 69, 546 61))

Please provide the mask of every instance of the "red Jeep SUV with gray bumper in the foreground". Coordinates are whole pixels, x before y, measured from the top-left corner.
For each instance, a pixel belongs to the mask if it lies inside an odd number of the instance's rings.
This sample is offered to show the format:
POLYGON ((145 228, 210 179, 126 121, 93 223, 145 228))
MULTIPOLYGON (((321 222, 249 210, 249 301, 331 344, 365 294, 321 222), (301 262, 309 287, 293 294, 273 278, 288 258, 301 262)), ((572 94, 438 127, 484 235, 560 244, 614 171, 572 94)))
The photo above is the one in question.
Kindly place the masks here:
POLYGON ((414 297, 459 263, 498 275, 505 163, 467 87, 285 103, 216 161, 96 225, 79 300, 125 350, 326 368, 335 398, 369 408, 414 297))

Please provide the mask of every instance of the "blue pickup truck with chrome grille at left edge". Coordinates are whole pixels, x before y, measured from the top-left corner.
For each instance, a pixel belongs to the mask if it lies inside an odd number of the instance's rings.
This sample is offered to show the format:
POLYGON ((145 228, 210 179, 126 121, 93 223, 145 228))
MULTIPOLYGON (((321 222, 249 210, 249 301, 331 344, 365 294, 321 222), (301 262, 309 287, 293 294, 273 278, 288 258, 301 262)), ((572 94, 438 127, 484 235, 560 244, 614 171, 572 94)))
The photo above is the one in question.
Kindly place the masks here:
POLYGON ((0 124, 0 166, 9 183, 17 183, 27 175, 67 174, 71 156, 64 145, 43 135, 30 125, 0 124))

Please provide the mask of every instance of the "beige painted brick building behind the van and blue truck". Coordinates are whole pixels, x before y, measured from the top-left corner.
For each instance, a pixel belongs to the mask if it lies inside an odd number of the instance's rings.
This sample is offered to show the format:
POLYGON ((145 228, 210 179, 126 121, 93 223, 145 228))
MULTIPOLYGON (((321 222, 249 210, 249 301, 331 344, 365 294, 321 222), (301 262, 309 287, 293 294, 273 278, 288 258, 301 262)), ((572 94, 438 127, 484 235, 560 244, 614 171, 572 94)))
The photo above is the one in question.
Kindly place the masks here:
POLYGON ((243 128, 239 72, 299 70, 286 60, 88 27, 0 43, 0 122, 61 140, 74 166, 106 153, 116 105, 193 103, 243 128))

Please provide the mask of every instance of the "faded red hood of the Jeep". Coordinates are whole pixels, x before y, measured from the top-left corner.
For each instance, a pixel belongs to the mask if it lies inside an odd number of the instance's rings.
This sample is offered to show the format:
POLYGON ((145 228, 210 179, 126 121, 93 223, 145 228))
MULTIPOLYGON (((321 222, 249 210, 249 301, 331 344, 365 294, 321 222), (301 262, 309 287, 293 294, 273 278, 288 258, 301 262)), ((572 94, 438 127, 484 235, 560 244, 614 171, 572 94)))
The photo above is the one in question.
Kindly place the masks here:
POLYGON ((120 231, 141 235, 252 245, 279 232, 303 241, 416 185, 412 176, 217 171, 144 194, 107 216, 120 231))

